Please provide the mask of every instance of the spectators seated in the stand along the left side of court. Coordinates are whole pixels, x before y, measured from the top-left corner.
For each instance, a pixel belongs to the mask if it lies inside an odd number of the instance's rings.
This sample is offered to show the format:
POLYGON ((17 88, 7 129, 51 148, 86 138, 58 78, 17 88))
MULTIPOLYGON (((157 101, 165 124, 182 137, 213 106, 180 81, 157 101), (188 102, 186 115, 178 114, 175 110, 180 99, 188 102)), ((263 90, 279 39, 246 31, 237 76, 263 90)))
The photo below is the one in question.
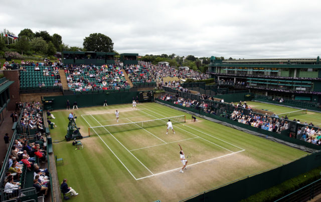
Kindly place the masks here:
MULTIPOLYGON (((21 108, 21 106, 19 105, 21 108)), ((22 106, 23 107, 23 106, 22 106)), ((20 126, 24 130, 25 127, 37 128, 36 139, 30 141, 28 135, 18 135, 14 140, 11 154, 8 158, 8 171, 4 180, 4 192, 7 198, 19 198, 25 196, 20 190, 26 184, 26 172, 33 172, 34 187, 37 191, 44 191, 47 195, 50 179, 48 169, 41 169, 39 162, 46 161, 46 142, 42 137, 42 109, 39 102, 26 103, 21 110, 22 119, 20 126), (23 173, 24 177, 22 177, 23 173)), ((19 132, 23 132, 19 131, 19 132)))

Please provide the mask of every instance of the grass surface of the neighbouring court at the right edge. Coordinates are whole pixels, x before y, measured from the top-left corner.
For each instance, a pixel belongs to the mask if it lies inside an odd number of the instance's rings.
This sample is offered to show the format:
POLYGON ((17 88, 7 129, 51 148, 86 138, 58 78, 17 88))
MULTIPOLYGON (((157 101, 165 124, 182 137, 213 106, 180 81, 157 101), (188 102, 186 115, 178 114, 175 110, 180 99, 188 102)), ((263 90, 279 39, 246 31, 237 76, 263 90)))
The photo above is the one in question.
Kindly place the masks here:
MULTIPOLYGON (((283 107, 283 106, 261 103, 261 102, 246 101, 246 103, 253 108, 264 109, 264 110, 267 109, 268 111, 274 112, 275 114, 281 114, 281 113, 292 112, 292 111, 298 110, 298 109, 294 109, 294 108, 290 108, 290 107, 283 107)), ((281 117, 281 116, 279 116, 279 117, 281 117)), ((313 112, 313 111, 307 110, 306 114, 289 116, 289 119, 290 120, 293 120, 293 119, 300 120, 301 123, 312 122, 315 126, 321 127, 321 113, 319 113, 319 112, 313 112)))

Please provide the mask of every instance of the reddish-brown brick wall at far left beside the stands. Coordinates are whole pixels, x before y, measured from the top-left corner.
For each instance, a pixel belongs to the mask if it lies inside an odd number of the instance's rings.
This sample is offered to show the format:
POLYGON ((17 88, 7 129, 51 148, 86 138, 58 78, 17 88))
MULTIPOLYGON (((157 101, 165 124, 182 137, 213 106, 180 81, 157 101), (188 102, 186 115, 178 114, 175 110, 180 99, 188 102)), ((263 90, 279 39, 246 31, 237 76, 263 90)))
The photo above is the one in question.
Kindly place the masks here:
POLYGON ((16 102, 20 102, 19 70, 6 70, 3 71, 3 73, 8 80, 14 81, 14 83, 9 86, 10 102, 8 104, 8 110, 15 110, 16 102))

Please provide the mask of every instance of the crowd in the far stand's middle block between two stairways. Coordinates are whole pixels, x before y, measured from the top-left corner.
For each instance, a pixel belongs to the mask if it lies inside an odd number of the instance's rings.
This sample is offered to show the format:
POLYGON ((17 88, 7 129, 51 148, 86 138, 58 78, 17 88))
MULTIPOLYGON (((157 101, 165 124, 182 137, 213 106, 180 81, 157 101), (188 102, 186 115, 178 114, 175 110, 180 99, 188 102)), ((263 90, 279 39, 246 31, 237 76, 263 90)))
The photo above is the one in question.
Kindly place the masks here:
POLYGON ((69 89, 75 91, 112 90, 129 88, 123 72, 112 65, 66 65, 69 89))

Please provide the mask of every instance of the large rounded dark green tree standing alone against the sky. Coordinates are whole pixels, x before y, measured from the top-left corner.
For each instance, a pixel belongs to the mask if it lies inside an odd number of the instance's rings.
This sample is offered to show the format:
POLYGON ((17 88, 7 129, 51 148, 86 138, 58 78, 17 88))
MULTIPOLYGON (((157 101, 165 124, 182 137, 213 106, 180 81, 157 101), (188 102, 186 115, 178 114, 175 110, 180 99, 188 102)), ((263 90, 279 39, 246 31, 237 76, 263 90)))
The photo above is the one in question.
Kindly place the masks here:
POLYGON ((84 39, 83 46, 86 51, 113 52, 114 43, 106 35, 93 33, 84 39))

